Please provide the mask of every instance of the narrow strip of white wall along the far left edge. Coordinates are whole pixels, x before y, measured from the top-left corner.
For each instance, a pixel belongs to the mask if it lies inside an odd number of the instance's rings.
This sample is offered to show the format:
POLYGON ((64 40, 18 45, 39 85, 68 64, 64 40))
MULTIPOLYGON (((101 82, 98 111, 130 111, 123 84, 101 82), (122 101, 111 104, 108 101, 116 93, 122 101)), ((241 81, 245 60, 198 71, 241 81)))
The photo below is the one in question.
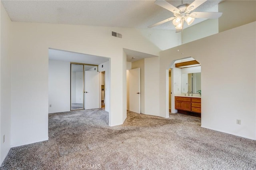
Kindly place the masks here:
POLYGON ((10 150, 11 141, 10 24, 11 21, 0 2, 0 164, 10 150), (5 142, 3 143, 4 135, 5 142))

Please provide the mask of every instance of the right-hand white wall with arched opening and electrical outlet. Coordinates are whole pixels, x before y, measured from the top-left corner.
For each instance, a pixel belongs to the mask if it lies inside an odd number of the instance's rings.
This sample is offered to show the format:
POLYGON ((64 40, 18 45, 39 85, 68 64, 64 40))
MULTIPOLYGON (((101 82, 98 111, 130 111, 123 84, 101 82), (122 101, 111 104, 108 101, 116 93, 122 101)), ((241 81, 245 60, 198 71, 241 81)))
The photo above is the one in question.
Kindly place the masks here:
POLYGON ((256 139, 255 30, 253 22, 162 51, 160 114, 168 114, 166 70, 173 60, 191 56, 202 64, 202 127, 256 139))

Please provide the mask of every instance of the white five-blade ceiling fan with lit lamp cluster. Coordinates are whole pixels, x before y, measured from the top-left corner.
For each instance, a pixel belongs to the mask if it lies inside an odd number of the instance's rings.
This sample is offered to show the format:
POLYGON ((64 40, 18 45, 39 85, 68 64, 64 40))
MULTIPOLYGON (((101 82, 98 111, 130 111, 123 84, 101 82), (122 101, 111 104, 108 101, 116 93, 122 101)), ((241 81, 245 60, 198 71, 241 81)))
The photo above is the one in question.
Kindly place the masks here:
POLYGON ((207 0, 194 0, 191 4, 183 4, 183 0, 181 1, 181 5, 175 7, 172 4, 169 4, 165 0, 156 0, 154 3, 166 10, 173 12, 174 17, 168 18, 166 20, 160 21, 156 24, 148 26, 148 28, 152 28, 154 26, 158 26, 160 24, 164 24, 168 21, 172 20, 176 28, 176 33, 181 32, 183 29, 184 22, 188 24, 192 24, 195 18, 208 18, 208 19, 217 19, 222 15, 222 12, 192 12, 198 6, 202 5, 207 0), (192 12, 192 13, 190 13, 192 12))

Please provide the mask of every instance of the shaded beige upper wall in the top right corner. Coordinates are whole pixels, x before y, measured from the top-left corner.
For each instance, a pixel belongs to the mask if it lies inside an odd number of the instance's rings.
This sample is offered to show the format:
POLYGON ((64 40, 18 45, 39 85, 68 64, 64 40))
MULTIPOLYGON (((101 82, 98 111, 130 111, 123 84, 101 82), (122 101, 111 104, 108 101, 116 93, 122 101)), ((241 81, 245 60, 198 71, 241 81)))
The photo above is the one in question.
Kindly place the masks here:
POLYGON ((219 32, 256 21, 255 0, 225 0, 218 8, 223 12, 219 18, 219 32))

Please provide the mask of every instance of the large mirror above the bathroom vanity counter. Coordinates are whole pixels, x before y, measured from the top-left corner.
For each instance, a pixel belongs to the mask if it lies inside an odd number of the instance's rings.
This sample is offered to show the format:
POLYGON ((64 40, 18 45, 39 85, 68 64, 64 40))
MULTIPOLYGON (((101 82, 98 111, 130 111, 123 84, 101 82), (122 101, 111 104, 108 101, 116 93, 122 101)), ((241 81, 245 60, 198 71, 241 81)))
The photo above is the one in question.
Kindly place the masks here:
POLYGON ((201 90, 201 73, 181 75, 181 93, 198 93, 198 90, 201 90))

